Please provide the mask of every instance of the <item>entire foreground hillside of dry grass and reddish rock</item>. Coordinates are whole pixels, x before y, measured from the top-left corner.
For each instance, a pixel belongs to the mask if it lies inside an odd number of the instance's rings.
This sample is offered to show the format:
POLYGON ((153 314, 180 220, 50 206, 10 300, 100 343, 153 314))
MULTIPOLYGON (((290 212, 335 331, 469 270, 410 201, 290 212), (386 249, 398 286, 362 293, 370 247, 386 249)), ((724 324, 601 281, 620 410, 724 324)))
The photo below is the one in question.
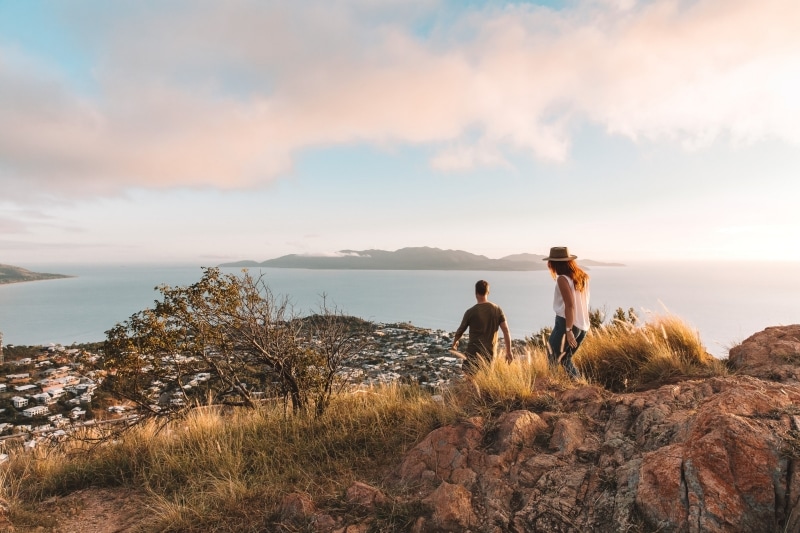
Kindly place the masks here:
MULTIPOLYGON (((539 376, 527 400, 453 417, 446 406, 476 387, 453 384, 438 400, 371 388, 290 431, 285 413, 271 423, 265 411, 198 409, 179 432, 94 448, 94 461, 71 455, 42 492, 6 493, 0 528, 800 531, 798 356, 800 325, 780 326, 731 349, 729 374, 624 394, 539 376)), ((32 457, 10 475, 32 475, 32 457)))

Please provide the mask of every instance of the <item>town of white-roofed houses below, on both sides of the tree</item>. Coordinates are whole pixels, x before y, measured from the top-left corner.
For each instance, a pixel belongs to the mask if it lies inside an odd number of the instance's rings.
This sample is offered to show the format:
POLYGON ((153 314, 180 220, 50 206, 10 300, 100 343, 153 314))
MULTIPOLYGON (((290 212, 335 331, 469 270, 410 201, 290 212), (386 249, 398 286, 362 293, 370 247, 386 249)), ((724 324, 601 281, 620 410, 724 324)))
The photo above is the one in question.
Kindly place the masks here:
MULTIPOLYGON (((351 386, 399 381, 435 390, 461 376, 461 360, 448 351, 452 338, 408 323, 376 324, 370 348, 354 356, 341 375, 351 386)), ((102 363, 100 343, 4 350, 0 337, 0 452, 6 441, 34 448, 86 425, 135 416, 134 406, 100 392, 102 363)), ((152 385, 154 396, 169 392, 163 383, 152 385)), ((0 462, 7 458, 0 453, 0 462)))

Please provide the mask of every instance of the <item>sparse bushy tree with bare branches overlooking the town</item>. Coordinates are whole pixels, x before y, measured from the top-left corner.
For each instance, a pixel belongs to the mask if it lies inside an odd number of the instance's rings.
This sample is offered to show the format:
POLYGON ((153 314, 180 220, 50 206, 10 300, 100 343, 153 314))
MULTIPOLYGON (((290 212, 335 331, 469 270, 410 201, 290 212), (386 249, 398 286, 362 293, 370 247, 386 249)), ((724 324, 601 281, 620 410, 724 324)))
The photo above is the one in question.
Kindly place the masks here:
POLYGON ((153 309, 106 332, 104 387, 144 413, 172 416, 188 402, 254 407, 283 397, 295 412, 327 407, 340 372, 368 343, 369 323, 323 301, 300 319, 263 278, 204 269, 188 287, 161 286, 153 309))

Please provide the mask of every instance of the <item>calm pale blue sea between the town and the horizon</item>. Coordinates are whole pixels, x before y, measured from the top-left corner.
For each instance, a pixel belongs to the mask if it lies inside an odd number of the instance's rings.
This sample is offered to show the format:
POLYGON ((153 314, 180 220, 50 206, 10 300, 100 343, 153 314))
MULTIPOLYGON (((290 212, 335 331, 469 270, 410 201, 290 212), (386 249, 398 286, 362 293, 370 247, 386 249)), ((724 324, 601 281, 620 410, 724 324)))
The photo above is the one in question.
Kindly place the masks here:
MULTIPOLYGON (((116 323, 152 307, 160 296, 157 285, 188 285, 202 276, 197 266, 25 267, 77 277, 0 285, 5 344, 103 340, 116 323)), ((259 272, 273 293, 289 297, 298 314, 314 311, 324 294, 345 314, 453 331, 474 303, 475 281, 486 279, 490 300, 505 311, 514 338, 553 320, 554 281, 546 271, 251 269, 259 272)), ((643 316, 678 315, 719 357, 767 326, 800 323, 800 263, 641 263, 594 267, 589 274, 592 307, 609 315, 617 307, 633 307, 643 316)))

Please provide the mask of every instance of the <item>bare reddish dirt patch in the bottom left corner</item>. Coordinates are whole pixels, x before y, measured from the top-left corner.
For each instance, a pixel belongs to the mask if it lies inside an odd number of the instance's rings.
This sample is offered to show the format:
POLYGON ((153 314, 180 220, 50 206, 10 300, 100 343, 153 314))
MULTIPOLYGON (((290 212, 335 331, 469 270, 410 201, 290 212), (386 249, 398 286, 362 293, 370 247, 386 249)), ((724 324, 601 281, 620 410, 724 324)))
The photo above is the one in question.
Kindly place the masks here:
POLYGON ((14 524, 18 533, 121 533, 143 531, 152 518, 147 498, 127 488, 91 488, 51 498, 37 506, 35 526, 14 524))

